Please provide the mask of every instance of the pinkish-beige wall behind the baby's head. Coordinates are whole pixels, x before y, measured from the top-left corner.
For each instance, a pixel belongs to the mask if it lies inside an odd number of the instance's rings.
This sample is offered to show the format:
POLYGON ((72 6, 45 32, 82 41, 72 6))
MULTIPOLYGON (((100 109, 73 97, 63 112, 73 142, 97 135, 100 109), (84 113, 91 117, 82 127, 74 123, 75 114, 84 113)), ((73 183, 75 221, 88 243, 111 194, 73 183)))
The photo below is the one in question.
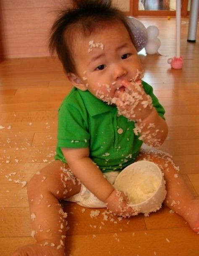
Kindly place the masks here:
MULTIPOLYGON (((53 12, 67 0, 0 0, 6 58, 48 56, 48 34, 53 12)), ((129 0, 113 0, 129 11, 129 0)))

